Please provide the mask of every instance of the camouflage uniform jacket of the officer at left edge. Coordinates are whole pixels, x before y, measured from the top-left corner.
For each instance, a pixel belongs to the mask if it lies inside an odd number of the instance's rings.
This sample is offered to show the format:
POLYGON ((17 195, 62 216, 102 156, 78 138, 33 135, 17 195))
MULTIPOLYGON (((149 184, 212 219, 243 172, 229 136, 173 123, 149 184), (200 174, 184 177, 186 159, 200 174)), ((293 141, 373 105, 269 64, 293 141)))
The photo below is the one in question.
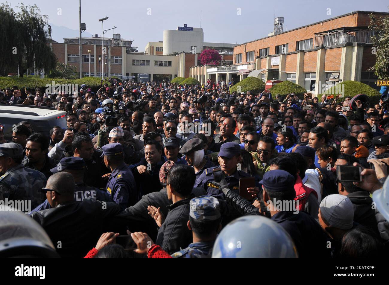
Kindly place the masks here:
POLYGON ((33 209, 46 199, 41 191, 45 186, 46 177, 42 172, 19 164, 0 177, 0 200, 28 200, 33 209))

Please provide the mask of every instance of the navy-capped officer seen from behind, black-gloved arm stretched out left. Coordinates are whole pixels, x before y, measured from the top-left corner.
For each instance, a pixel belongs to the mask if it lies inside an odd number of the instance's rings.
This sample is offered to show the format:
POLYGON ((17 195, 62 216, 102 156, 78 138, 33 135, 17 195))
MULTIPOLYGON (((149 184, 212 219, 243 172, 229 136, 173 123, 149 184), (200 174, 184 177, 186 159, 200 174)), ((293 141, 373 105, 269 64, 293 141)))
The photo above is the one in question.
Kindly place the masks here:
MULTIPOLYGON (((263 185, 262 199, 271 219, 282 226, 296 245, 299 257, 328 257, 328 236, 308 213, 299 211, 294 201, 294 177, 285 170, 270 170, 259 182, 263 185)), ((226 202, 242 215, 262 215, 251 202, 231 191, 225 180, 213 182, 226 195, 226 202)))

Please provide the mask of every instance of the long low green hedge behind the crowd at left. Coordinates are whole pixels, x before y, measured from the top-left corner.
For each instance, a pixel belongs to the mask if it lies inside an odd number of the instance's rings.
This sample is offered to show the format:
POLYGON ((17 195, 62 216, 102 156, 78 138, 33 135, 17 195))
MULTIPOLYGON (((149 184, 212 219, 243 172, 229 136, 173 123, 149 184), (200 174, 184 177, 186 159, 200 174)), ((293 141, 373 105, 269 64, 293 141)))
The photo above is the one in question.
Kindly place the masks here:
MULTIPOLYGON (((100 88, 101 78, 99 77, 84 77, 82 79, 63 79, 63 78, 38 78, 38 77, 0 77, 0 89, 12 88, 12 86, 18 86, 19 89, 24 88, 40 88, 46 89, 46 84, 78 84, 81 87, 82 84, 86 84, 92 91, 97 92, 100 88)), ((103 83, 110 83, 103 81, 103 83)))

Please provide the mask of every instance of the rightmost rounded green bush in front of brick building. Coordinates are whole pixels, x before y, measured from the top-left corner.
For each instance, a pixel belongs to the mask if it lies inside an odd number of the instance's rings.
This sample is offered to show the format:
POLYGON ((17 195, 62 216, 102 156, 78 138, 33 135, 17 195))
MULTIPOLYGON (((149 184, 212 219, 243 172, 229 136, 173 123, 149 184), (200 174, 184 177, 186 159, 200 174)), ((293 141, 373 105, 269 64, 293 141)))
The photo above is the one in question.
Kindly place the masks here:
MULTIPOLYGON (((354 97, 355 95, 358 94, 366 94, 369 99, 371 104, 377 104, 380 101, 381 98, 381 93, 379 93, 376 89, 358 81, 344 81, 344 82, 339 82, 335 86, 327 89, 324 91, 324 94, 318 94, 317 98, 319 98, 319 101, 321 100, 321 97, 327 96, 327 94, 344 94, 344 97, 354 97), (342 84, 339 86, 339 84, 342 84)), ((343 101, 344 99, 339 98, 338 101, 343 101)))

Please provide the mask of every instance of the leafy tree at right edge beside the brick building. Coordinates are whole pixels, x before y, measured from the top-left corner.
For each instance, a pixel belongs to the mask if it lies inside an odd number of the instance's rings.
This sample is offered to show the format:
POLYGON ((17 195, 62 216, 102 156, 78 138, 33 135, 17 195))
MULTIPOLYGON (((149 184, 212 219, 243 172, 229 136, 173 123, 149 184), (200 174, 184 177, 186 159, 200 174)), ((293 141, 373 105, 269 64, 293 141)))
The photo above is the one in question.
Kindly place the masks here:
POLYGON ((371 14, 369 29, 375 31, 371 40, 376 61, 375 65, 368 70, 374 71, 378 79, 389 79, 389 16, 376 17, 371 14))

